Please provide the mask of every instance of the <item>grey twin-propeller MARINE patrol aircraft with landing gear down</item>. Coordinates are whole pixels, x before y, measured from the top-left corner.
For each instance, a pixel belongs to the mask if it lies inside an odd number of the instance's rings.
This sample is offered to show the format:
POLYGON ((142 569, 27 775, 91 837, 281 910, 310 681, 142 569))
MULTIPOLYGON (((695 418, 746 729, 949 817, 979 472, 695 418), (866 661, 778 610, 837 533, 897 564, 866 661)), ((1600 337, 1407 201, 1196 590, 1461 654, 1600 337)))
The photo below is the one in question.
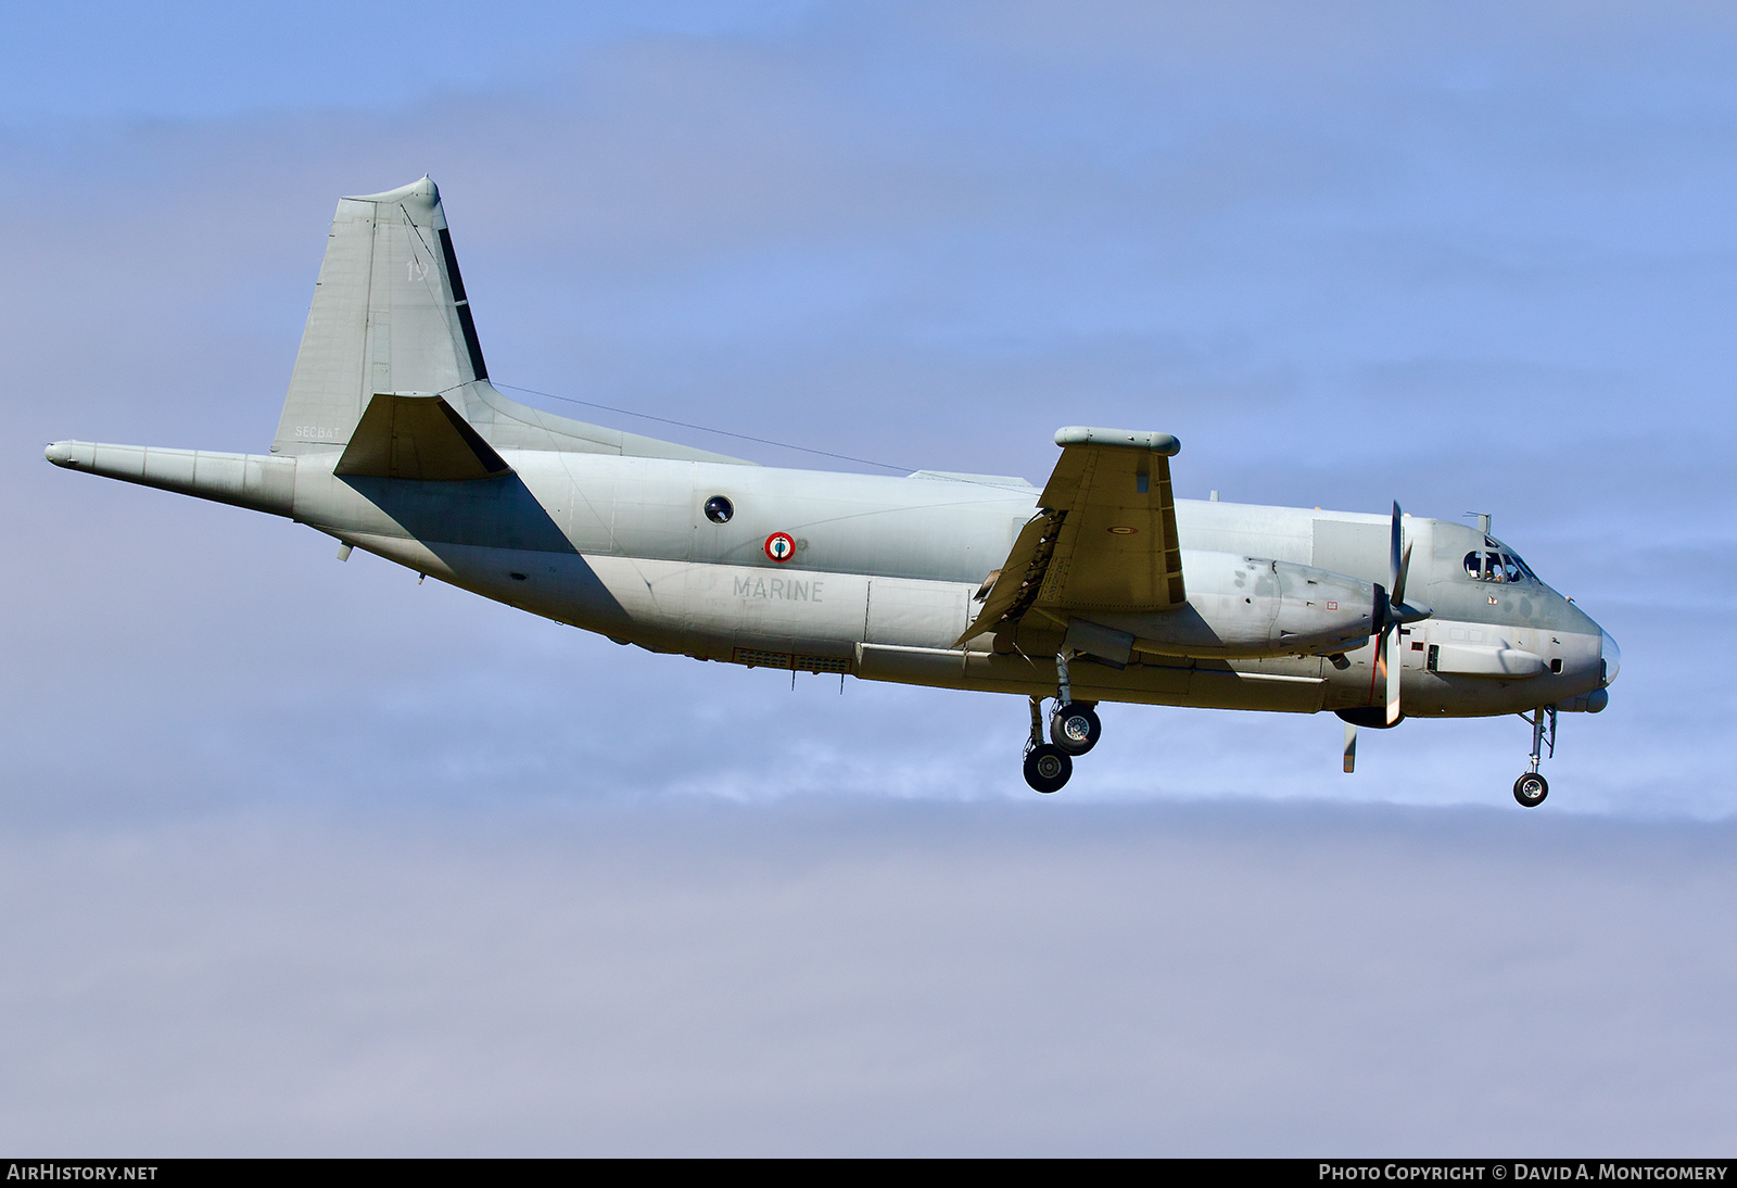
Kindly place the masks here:
POLYGON ((651 651, 1030 700, 1061 789, 1098 702, 1357 728, 1520 714, 1523 806, 1558 710, 1619 651, 1478 526, 1176 498, 1166 432, 1065 427, 1021 478, 763 467, 556 417, 488 380, 439 191, 342 198, 269 453, 57 441, 56 465, 288 516, 351 549, 651 651), (1053 698, 1047 714, 1044 702, 1053 698))

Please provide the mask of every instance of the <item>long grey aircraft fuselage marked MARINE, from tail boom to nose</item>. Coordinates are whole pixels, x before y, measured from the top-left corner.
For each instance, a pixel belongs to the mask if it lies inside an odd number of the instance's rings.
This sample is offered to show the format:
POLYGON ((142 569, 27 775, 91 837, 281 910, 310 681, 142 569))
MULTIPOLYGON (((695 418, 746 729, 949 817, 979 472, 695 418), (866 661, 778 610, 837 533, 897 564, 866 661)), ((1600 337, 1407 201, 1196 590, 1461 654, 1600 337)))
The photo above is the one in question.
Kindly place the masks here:
MULTIPOLYGON (((195 469, 252 467, 264 476, 255 492, 236 488, 226 502, 294 516, 419 573, 653 651, 1039 696, 1056 686, 1060 627, 1028 618, 955 643, 985 578, 1039 511, 1037 490, 1018 479, 509 450, 511 476, 426 483, 335 476, 337 453, 137 450, 125 460, 135 448, 56 448, 75 469, 217 498, 226 497, 196 483, 195 469), (705 514, 717 497, 730 504, 724 523, 705 514), (768 547, 780 533, 785 559, 768 547)), ((1388 518, 1176 500, 1176 523, 1190 606, 1167 615, 1242 643, 1212 655, 1211 643, 1193 641, 1190 657, 1143 643, 1124 669, 1082 662, 1077 696, 1291 712, 1381 703, 1367 636, 1332 655, 1263 643, 1270 611, 1254 594, 1282 564, 1343 575, 1346 597, 1362 597, 1384 580, 1388 518)), ((1407 518, 1405 537, 1409 597, 1435 611, 1402 629, 1407 716, 1596 709, 1586 698, 1615 674, 1588 615, 1530 577, 1468 571, 1468 554, 1501 549, 1475 528, 1407 518)))

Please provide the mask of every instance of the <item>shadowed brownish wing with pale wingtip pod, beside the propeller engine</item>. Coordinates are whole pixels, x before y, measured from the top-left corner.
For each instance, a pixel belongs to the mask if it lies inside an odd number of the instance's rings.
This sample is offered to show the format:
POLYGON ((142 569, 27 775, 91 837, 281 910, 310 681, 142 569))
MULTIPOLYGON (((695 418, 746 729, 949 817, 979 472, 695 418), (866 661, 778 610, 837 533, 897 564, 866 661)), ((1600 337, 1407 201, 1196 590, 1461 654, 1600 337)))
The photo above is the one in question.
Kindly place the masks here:
MULTIPOLYGON (((1167 432, 1056 431, 1039 514, 1020 531, 959 644, 1037 608, 1058 625, 1091 611, 1160 611, 1188 599, 1167 432)), ((957 646, 957 644, 955 644, 957 646)))

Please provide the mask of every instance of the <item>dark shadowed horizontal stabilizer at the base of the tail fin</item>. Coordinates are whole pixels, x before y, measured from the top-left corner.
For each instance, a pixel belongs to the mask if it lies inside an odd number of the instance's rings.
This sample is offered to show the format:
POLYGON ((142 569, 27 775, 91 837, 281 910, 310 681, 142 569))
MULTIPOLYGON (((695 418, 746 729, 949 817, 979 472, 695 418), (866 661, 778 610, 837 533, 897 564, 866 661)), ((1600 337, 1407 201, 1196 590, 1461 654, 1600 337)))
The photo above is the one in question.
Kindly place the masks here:
POLYGON ((377 393, 334 474, 466 483, 502 478, 512 467, 443 398, 377 393))

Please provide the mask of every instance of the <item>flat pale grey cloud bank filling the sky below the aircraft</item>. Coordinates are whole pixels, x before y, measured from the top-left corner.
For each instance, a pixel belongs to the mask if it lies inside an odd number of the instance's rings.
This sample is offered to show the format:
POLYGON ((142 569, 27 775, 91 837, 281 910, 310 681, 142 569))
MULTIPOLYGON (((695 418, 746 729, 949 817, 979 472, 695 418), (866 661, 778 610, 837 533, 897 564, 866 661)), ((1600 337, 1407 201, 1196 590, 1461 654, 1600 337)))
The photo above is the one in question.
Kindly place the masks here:
POLYGON ((0 1139, 1730 1146, 1730 827, 808 804, 12 834, 0 1139))

